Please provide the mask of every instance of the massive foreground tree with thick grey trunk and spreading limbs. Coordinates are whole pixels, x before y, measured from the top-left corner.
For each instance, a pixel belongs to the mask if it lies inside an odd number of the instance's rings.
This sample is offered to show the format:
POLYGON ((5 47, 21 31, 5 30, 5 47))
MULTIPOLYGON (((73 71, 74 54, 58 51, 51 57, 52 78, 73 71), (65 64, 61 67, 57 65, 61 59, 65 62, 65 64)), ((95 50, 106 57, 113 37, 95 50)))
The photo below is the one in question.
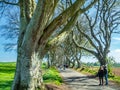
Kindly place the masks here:
MULTIPOLYGON (((20 8, 17 66, 12 90, 43 90, 40 63, 47 52, 46 45, 48 39, 68 19, 78 17, 97 0, 93 2, 91 0, 92 3, 86 8, 82 8, 86 2, 85 0, 76 0, 54 19, 52 16, 55 13, 55 8, 59 0, 35 1, 19 0, 17 3, 13 3, 12 0, 0 1, 0 4, 17 5, 20 8)), ((74 23, 71 22, 70 24, 74 25, 74 23)), ((71 27, 69 26, 69 28, 71 27)))

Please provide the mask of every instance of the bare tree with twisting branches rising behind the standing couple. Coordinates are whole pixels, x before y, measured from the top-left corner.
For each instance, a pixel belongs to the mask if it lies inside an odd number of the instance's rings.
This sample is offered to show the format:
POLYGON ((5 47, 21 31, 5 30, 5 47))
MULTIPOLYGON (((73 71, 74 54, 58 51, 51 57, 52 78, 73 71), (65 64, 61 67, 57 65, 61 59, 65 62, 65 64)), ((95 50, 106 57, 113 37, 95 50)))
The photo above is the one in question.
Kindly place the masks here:
POLYGON ((119 32, 116 28, 120 24, 120 11, 115 7, 116 2, 117 0, 99 0, 95 6, 96 14, 94 18, 89 13, 84 13, 89 27, 87 28, 85 24, 80 22, 77 24, 79 32, 89 41, 93 48, 80 46, 75 39, 74 42, 79 48, 93 54, 100 62, 100 65, 107 64, 106 60, 110 52, 112 34, 119 32), (89 30, 89 34, 84 32, 86 29, 89 30))

